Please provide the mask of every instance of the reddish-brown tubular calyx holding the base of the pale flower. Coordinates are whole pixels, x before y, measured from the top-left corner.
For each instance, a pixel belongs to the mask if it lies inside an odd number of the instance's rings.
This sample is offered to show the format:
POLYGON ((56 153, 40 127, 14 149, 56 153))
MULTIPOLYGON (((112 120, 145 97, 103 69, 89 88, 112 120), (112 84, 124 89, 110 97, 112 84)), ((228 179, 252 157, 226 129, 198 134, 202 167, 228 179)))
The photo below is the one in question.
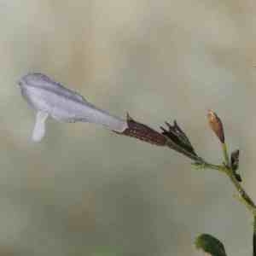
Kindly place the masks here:
POLYGON ((128 128, 119 134, 136 137, 139 140, 158 146, 166 145, 166 137, 164 137, 160 132, 154 131, 152 128, 148 127, 148 125, 143 125, 135 121, 131 118, 129 113, 127 113, 127 125, 128 128))

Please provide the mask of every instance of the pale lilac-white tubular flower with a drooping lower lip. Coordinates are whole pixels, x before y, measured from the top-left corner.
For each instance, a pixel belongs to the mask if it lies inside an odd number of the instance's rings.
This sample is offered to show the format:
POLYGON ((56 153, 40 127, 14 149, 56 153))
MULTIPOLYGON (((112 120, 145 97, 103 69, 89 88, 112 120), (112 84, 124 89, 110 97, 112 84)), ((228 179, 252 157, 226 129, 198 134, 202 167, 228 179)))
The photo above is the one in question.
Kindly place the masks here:
POLYGON ((39 142, 45 134, 45 121, 50 116, 64 122, 89 122, 107 126, 119 133, 127 122, 96 108, 83 96, 49 79, 42 73, 29 73, 20 79, 21 94, 37 111, 32 140, 39 142))

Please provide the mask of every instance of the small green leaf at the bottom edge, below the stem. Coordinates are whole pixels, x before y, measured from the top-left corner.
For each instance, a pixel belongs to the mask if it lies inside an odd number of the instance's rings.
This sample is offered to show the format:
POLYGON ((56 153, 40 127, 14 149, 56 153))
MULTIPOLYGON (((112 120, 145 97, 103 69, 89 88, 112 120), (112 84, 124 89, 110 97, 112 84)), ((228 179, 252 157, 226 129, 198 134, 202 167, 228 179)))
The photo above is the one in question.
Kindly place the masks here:
POLYGON ((195 247, 212 256, 227 256, 223 243, 209 234, 198 236, 195 240, 195 247))

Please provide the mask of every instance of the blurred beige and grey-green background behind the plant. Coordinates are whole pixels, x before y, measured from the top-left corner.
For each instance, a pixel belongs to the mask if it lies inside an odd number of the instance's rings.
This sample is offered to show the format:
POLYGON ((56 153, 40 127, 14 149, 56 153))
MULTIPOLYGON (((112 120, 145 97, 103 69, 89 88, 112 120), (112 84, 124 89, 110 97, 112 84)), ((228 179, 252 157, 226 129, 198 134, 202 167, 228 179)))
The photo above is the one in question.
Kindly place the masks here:
POLYGON ((16 81, 42 72, 110 113, 158 129, 177 119, 220 162, 208 108, 256 200, 253 0, 0 0, 0 255, 199 255, 202 232, 251 255, 252 219, 217 172, 100 126, 35 113, 16 81))

